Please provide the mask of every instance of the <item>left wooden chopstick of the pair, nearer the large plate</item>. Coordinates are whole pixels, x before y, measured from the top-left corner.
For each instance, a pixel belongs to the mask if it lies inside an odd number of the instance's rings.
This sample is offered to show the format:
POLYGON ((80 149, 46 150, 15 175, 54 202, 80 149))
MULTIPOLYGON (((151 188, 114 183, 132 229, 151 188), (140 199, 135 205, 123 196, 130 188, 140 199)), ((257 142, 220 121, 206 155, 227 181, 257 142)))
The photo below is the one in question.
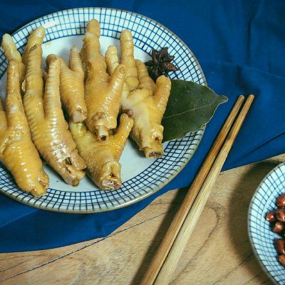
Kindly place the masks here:
MULTIPOLYGON (((252 98, 252 97, 251 97, 252 98)), ((226 122, 224 123, 222 130, 219 132, 217 139, 215 140, 214 144, 212 145, 211 150, 204 160, 202 167, 200 168, 195 180, 192 182, 190 189, 187 192, 187 195, 182 202, 180 209, 178 210, 175 218, 170 225, 170 228, 165 235, 165 238, 162 240, 160 247, 157 249, 155 253, 155 257, 152 259, 150 266, 148 267, 145 276, 141 281, 141 285, 151 285, 154 284, 157 275, 162 268, 162 264, 164 264, 165 259, 167 258, 167 254, 170 252, 173 243, 177 237, 177 234, 180 232, 183 222, 185 221, 188 212, 190 211, 192 204, 199 193, 200 188, 204 180, 206 179, 209 170, 211 169, 215 158, 217 157, 222 144, 229 133, 229 129, 231 128, 232 124, 234 123, 237 114, 239 113, 239 109, 242 106, 244 101, 244 96, 239 96, 237 103, 235 103, 234 108, 232 109, 231 113, 229 114, 226 122)))

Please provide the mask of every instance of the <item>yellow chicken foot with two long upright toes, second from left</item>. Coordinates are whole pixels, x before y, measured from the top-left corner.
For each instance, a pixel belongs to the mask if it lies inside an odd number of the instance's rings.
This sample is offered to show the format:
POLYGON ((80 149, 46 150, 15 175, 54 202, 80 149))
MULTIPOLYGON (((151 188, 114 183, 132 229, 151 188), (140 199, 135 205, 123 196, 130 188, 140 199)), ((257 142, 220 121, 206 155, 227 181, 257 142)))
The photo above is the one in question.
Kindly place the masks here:
POLYGON ((24 110, 31 130, 31 138, 43 158, 70 185, 78 185, 86 167, 78 155, 76 143, 63 117, 59 91, 60 60, 52 58, 48 65, 43 95, 41 76, 41 46, 32 46, 26 68, 24 110))

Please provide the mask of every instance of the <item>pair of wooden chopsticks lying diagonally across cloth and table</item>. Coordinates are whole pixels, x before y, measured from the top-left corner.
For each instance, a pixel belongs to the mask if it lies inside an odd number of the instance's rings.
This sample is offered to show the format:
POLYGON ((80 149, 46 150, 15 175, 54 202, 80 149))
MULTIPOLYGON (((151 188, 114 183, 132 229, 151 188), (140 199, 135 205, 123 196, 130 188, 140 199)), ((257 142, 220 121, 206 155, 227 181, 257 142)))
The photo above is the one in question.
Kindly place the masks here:
POLYGON ((254 95, 249 95, 242 107, 244 96, 241 95, 234 104, 140 285, 169 283, 253 100, 254 95))

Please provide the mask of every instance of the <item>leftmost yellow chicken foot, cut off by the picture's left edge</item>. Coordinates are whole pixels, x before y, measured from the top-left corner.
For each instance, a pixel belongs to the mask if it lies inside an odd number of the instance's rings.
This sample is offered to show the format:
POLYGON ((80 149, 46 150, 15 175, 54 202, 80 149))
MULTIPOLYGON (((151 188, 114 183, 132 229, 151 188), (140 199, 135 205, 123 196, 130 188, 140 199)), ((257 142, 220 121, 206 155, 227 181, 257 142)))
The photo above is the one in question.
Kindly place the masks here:
POLYGON ((0 104, 0 160, 11 171, 21 190, 33 196, 46 194, 48 175, 31 140, 16 59, 9 62, 7 69, 6 113, 0 104))

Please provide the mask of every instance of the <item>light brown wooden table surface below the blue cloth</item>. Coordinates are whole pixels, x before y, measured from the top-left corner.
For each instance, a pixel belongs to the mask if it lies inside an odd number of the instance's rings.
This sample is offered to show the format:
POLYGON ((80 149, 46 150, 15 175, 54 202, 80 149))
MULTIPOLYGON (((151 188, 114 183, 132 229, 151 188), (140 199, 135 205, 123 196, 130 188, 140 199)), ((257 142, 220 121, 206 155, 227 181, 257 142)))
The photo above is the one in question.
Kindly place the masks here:
MULTIPOLYGON (((219 175, 171 284, 272 284, 252 253, 247 211, 261 180, 284 160, 279 155, 219 175)), ((158 197, 103 239, 0 254, 0 285, 139 284, 185 193, 158 197)))

